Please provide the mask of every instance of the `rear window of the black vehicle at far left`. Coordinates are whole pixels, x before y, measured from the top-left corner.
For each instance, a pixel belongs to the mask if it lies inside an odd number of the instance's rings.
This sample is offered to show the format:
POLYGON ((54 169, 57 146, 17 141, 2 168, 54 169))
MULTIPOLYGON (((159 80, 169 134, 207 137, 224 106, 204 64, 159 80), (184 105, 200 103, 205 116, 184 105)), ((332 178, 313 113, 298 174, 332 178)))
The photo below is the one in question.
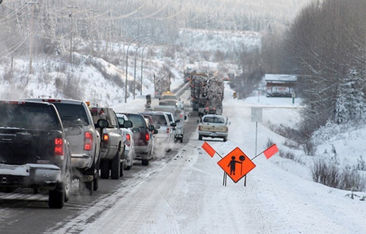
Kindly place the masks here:
POLYGON ((48 107, 0 104, 0 128, 57 130, 54 112, 48 107))

